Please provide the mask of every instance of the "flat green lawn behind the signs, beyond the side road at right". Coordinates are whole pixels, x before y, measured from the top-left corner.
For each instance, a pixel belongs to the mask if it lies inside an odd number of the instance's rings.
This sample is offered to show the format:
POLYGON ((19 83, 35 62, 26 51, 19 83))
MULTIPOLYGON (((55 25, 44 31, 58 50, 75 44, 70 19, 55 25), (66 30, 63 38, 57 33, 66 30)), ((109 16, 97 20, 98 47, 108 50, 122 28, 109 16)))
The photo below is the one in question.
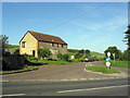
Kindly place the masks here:
MULTIPOLYGON (((105 64, 106 61, 103 61, 103 63, 105 64)), ((118 66, 118 68, 130 68, 130 61, 119 61, 119 60, 116 60, 115 63, 114 61, 112 60, 110 61, 110 65, 112 66, 118 66)))

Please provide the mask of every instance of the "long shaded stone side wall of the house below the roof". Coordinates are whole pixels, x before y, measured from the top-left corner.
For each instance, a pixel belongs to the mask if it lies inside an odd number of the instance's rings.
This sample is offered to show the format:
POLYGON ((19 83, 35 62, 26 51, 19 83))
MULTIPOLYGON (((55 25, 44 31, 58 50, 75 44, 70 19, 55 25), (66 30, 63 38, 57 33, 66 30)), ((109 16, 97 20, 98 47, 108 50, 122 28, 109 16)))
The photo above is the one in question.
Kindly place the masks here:
POLYGON ((62 47, 62 45, 58 44, 58 47, 57 47, 57 44, 53 44, 53 46, 52 46, 52 42, 39 41, 39 48, 43 48, 43 49, 48 48, 48 49, 50 49, 50 51, 53 53, 51 56, 53 59, 56 59, 55 56, 57 53, 62 53, 62 54, 67 53, 67 45, 63 45, 63 47, 62 47))

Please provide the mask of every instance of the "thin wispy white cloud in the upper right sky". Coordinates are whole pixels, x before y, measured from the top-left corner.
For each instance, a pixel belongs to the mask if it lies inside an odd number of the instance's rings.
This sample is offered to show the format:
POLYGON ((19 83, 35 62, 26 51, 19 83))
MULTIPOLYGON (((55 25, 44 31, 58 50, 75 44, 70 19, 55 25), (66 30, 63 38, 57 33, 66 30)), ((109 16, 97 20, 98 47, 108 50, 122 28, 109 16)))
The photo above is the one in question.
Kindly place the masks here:
POLYGON ((127 17, 121 17, 121 16, 115 16, 110 20, 107 21, 73 21, 73 24, 82 28, 86 28, 88 30, 91 30, 93 33, 100 33, 100 32, 115 32, 118 30, 122 27, 127 27, 128 25, 128 20, 127 17))

